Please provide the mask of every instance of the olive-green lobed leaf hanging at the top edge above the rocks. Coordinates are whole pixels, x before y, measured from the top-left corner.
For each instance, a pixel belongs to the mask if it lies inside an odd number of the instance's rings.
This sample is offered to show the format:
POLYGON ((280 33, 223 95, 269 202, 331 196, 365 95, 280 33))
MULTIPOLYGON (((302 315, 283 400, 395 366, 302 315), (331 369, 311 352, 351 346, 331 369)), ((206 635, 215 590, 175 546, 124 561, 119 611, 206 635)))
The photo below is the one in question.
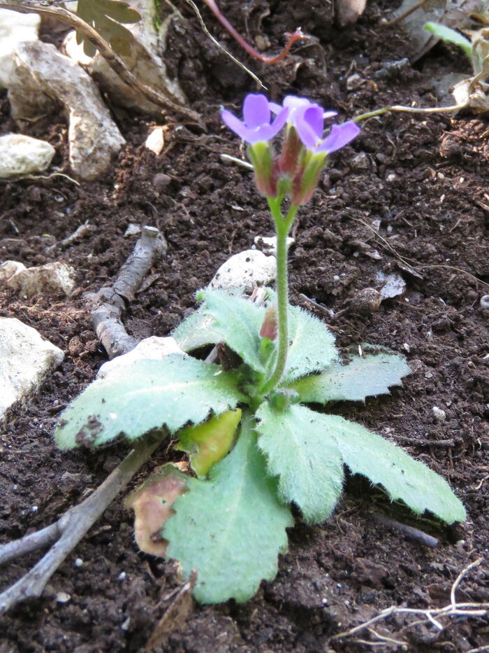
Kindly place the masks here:
MULTIPOLYGON (((138 22, 141 17, 128 3, 121 0, 78 0, 76 13, 110 43, 117 55, 131 54, 134 37, 121 23, 138 22)), ((85 34, 77 31, 76 41, 83 43, 85 55, 94 57, 96 48, 85 34)))

